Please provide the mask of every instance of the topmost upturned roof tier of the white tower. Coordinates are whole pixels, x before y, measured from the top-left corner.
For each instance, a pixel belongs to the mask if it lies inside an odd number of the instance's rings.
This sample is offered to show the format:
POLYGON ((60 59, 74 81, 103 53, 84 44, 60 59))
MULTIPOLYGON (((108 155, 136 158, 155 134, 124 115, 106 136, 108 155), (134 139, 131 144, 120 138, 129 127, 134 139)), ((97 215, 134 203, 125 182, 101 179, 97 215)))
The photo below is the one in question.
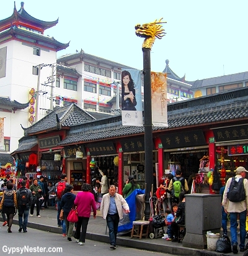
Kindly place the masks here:
POLYGON ((34 25, 42 30, 49 29, 50 27, 55 26, 58 23, 58 19, 56 21, 41 21, 40 19, 36 19, 33 16, 30 16, 24 9, 24 2, 20 3, 20 10, 17 11, 14 3, 14 11, 12 15, 6 19, 2 19, 0 21, 0 27, 4 27, 5 25, 11 25, 19 22, 24 22, 25 24, 34 25))

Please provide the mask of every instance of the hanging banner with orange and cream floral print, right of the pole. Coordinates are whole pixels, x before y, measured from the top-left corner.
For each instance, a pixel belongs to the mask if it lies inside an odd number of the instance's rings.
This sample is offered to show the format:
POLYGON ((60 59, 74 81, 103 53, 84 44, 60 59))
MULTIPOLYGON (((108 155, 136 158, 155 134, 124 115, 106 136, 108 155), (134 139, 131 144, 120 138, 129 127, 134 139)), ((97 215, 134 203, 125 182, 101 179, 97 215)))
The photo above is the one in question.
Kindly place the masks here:
POLYGON ((168 127, 166 73, 151 72, 151 107, 153 126, 168 127))

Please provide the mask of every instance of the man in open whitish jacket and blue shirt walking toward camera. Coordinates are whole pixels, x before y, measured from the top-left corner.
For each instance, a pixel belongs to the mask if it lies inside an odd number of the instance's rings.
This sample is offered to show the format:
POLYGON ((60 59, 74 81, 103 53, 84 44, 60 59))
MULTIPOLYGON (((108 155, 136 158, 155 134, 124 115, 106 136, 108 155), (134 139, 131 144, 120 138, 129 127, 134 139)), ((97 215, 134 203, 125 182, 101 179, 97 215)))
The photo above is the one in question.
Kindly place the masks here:
POLYGON ((122 208, 125 213, 130 213, 129 206, 121 194, 116 193, 115 185, 110 185, 108 193, 102 197, 100 212, 107 221, 110 248, 116 249, 118 224, 123 218, 122 208))

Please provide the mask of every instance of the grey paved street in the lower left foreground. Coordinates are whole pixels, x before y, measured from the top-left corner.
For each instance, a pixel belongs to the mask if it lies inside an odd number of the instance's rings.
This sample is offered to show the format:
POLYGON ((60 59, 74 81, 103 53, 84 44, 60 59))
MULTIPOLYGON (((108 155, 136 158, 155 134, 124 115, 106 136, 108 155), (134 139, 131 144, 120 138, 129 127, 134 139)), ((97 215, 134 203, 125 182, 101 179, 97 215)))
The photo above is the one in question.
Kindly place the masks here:
POLYGON ((39 231, 37 229, 29 229, 27 233, 19 233, 19 227, 14 225, 12 227, 12 233, 7 233, 7 227, 0 227, 1 236, 1 255, 88 255, 88 256, 109 256, 116 255, 132 255, 132 256, 177 256, 171 254, 164 254, 159 252, 149 252, 147 250, 138 250, 128 247, 118 246, 117 250, 112 250, 109 244, 104 242, 97 242, 94 240, 86 240, 86 244, 83 246, 78 245, 73 241, 69 242, 66 238, 63 238, 59 234, 53 234, 51 232, 39 231), (46 247, 44 249, 44 247, 46 247), (26 250, 22 252, 21 250, 26 250), (36 252, 29 252, 27 249, 37 250, 36 252), (13 251, 11 251, 13 250, 13 251), (17 252, 19 250, 19 252, 17 252), (51 252, 50 252, 51 250, 51 252), (13 252, 13 253, 12 253, 13 252))

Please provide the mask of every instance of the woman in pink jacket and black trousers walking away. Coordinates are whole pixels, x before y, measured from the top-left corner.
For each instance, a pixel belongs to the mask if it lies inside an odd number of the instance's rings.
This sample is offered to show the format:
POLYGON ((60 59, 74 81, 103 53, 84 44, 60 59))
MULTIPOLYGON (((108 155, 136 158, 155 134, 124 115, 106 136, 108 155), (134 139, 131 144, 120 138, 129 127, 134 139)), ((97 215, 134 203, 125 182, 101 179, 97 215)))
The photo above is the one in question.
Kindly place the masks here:
POLYGON ((74 238, 77 239, 79 245, 84 245, 89 217, 91 216, 91 208, 93 209, 94 219, 97 214, 94 195, 91 193, 91 185, 87 183, 82 185, 82 192, 77 194, 74 204, 78 209, 78 224, 74 238))

